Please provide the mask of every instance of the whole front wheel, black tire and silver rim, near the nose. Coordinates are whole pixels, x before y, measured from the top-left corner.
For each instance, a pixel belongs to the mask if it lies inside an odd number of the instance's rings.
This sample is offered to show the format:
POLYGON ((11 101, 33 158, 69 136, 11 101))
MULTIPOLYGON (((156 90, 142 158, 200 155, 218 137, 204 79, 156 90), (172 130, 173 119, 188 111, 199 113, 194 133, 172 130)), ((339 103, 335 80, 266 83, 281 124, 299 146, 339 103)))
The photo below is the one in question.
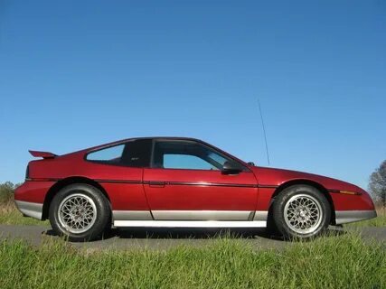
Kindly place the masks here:
POLYGON ((272 215, 275 228, 284 238, 307 239, 325 232, 330 224, 331 208, 325 195, 315 187, 294 185, 278 194, 272 215), (315 217, 317 215, 319 217, 315 217))

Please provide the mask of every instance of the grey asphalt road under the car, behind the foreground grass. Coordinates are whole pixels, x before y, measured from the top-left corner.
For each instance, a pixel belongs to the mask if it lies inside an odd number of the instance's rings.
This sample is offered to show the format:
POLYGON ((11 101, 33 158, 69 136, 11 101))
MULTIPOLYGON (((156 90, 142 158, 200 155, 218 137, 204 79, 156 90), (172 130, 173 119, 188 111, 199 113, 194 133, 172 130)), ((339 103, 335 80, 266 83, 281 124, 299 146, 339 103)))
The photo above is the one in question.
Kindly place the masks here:
MULTIPOLYGON (((364 240, 378 240, 386 244, 386 227, 381 228, 331 228, 337 234, 345 234, 347 230, 358 229, 364 240)), ((70 243, 73 247, 87 250, 117 249, 126 250, 148 247, 150 249, 164 250, 178 245, 204 246, 210 244, 221 231, 219 229, 182 229, 182 228, 120 228, 112 230, 111 234, 103 240, 70 243)), ((280 238, 268 236, 264 229, 231 229, 254 247, 282 248, 290 242, 280 238)), ((1 239, 24 239, 33 246, 40 246, 44 239, 59 238, 54 235, 52 228, 43 226, 14 226, 0 225, 1 239)))

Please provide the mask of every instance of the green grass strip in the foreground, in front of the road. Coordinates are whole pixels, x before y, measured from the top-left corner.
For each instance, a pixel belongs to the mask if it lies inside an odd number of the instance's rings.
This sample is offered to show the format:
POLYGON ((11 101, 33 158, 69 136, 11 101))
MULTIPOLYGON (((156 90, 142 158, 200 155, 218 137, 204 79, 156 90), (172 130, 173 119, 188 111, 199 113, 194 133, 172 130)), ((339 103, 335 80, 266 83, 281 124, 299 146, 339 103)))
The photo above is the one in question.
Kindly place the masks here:
POLYGON ((0 288, 386 288, 386 250, 354 234, 283 250, 219 238, 206 247, 76 250, 0 242, 0 288))

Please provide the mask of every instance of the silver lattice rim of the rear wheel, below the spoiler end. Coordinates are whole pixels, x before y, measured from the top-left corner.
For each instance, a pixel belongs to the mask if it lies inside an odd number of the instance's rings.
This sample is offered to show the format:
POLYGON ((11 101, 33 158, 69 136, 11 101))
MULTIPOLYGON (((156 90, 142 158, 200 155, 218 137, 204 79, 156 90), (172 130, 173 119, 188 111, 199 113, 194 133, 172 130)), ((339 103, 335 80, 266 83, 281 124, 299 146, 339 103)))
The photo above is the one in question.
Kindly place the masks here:
POLYGON ((61 200, 58 219, 67 231, 80 234, 94 225, 97 219, 97 207, 89 196, 74 193, 61 200))

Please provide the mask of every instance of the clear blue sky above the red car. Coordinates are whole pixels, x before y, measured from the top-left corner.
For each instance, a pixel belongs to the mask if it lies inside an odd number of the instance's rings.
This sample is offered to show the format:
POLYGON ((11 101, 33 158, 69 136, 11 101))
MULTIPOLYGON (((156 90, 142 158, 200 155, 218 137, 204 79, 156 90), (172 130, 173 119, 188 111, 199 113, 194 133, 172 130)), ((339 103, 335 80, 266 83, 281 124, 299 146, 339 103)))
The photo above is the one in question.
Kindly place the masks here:
POLYGON ((0 1, 0 182, 28 149, 201 138, 367 187, 386 158, 383 1, 0 1))

